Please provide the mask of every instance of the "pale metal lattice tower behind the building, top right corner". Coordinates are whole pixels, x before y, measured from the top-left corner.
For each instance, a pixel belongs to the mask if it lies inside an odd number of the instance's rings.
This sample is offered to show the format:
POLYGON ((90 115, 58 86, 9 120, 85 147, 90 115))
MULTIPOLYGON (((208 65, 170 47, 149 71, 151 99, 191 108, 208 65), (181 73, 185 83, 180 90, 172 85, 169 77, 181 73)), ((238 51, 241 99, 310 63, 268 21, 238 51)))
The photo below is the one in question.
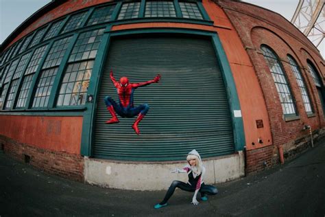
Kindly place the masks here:
MULTIPOLYGON (((325 0, 300 0, 291 23, 320 49, 325 43, 325 0)), ((321 51, 322 52, 322 51, 321 51)))

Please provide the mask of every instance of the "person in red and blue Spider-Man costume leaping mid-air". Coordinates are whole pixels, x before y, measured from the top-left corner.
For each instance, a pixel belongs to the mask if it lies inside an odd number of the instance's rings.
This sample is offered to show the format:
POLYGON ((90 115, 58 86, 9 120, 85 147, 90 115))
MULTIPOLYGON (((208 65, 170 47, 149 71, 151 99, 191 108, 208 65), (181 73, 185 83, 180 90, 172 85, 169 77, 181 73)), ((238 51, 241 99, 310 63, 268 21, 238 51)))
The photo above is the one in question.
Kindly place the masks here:
POLYGON ((112 115, 112 118, 106 122, 106 124, 114 124, 118 123, 119 119, 115 112, 120 115, 121 117, 134 117, 139 115, 136 118, 136 121, 132 125, 136 134, 140 134, 138 124, 141 122, 141 119, 145 117, 145 114, 149 110, 148 104, 143 104, 141 106, 134 107, 133 105, 133 93, 134 90, 138 87, 143 87, 148 84, 157 83, 160 80, 160 75, 156 76, 154 80, 149 80, 147 82, 141 82, 132 84, 129 83, 128 78, 122 77, 119 82, 117 82, 113 76, 113 72, 110 71, 110 79, 112 80, 114 86, 117 89, 117 94, 119 95, 119 104, 117 104, 112 98, 106 96, 105 103, 107 106, 108 111, 112 115))

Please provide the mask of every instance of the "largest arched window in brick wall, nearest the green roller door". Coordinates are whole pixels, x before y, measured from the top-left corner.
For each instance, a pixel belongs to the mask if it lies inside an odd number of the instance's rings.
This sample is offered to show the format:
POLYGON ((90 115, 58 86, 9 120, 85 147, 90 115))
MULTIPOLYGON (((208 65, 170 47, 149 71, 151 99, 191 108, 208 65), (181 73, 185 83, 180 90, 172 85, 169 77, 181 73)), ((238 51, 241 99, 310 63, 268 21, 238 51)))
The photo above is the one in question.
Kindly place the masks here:
POLYGON ((265 45, 261 45, 261 49, 265 61, 269 66, 269 71, 272 73, 274 83, 276 84, 276 90, 279 94, 283 114, 297 115, 296 105, 291 94, 289 82, 285 76, 285 71, 283 70, 278 56, 276 56, 272 49, 265 45))

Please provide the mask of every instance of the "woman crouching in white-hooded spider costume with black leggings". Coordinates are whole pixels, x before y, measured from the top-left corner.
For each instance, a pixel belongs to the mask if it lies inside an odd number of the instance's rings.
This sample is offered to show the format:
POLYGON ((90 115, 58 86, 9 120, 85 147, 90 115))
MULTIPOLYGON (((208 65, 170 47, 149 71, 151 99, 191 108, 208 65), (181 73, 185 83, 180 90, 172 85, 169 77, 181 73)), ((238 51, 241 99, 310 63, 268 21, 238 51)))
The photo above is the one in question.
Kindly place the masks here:
POLYGON ((154 205, 155 209, 159 209, 161 207, 167 206, 167 201, 169 198, 171 198, 171 195, 173 195, 173 192, 175 192, 176 187, 180 188, 181 190, 184 190, 186 192, 194 192, 192 202, 193 205, 198 205, 199 202, 197 201, 197 193, 200 192, 201 194, 201 200, 207 201, 208 198, 206 197, 206 194, 208 195, 215 195, 218 193, 217 188, 215 188, 213 185, 205 185, 203 182, 203 177, 205 174, 206 169, 202 165, 201 157, 199 153, 194 149, 191 152, 189 152, 189 155, 187 155, 186 160, 188 164, 182 169, 176 168, 175 171, 172 171, 174 173, 183 173, 187 172, 189 176, 189 181, 187 183, 183 183, 182 181, 173 181, 171 183, 171 186, 169 187, 165 198, 160 203, 154 205))

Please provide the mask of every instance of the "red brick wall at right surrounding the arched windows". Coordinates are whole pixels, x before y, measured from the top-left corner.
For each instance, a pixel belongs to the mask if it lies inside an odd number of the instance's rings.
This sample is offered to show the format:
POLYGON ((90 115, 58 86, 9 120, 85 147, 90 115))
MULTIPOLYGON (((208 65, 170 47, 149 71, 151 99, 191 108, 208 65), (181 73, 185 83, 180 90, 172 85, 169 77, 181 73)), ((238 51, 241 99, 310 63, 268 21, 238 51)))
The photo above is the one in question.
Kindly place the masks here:
POLYGON ((303 130, 304 125, 309 125, 313 130, 316 130, 317 137, 324 135, 325 122, 322 105, 313 78, 309 71, 306 70, 306 60, 308 58, 324 78, 324 60, 322 60, 315 46, 279 14, 235 1, 217 1, 217 4, 221 6, 232 25, 234 25, 243 47, 250 57, 259 85, 263 91, 265 102, 261 103, 266 104, 269 114, 272 146, 258 147, 255 150, 246 152, 246 172, 254 172, 279 162, 277 147, 280 145, 283 146, 285 157, 291 157, 309 148, 310 135, 308 130, 303 130), (260 49, 262 44, 274 49, 274 52, 280 58, 289 80, 293 98, 296 100, 297 119, 288 121, 283 117, 278 91, 260 49), (314 115, 312 116, 308 117, 306 115, 300 88, 288 63, 287 54, 293 56, 300 66, 314 107, 314 115))

